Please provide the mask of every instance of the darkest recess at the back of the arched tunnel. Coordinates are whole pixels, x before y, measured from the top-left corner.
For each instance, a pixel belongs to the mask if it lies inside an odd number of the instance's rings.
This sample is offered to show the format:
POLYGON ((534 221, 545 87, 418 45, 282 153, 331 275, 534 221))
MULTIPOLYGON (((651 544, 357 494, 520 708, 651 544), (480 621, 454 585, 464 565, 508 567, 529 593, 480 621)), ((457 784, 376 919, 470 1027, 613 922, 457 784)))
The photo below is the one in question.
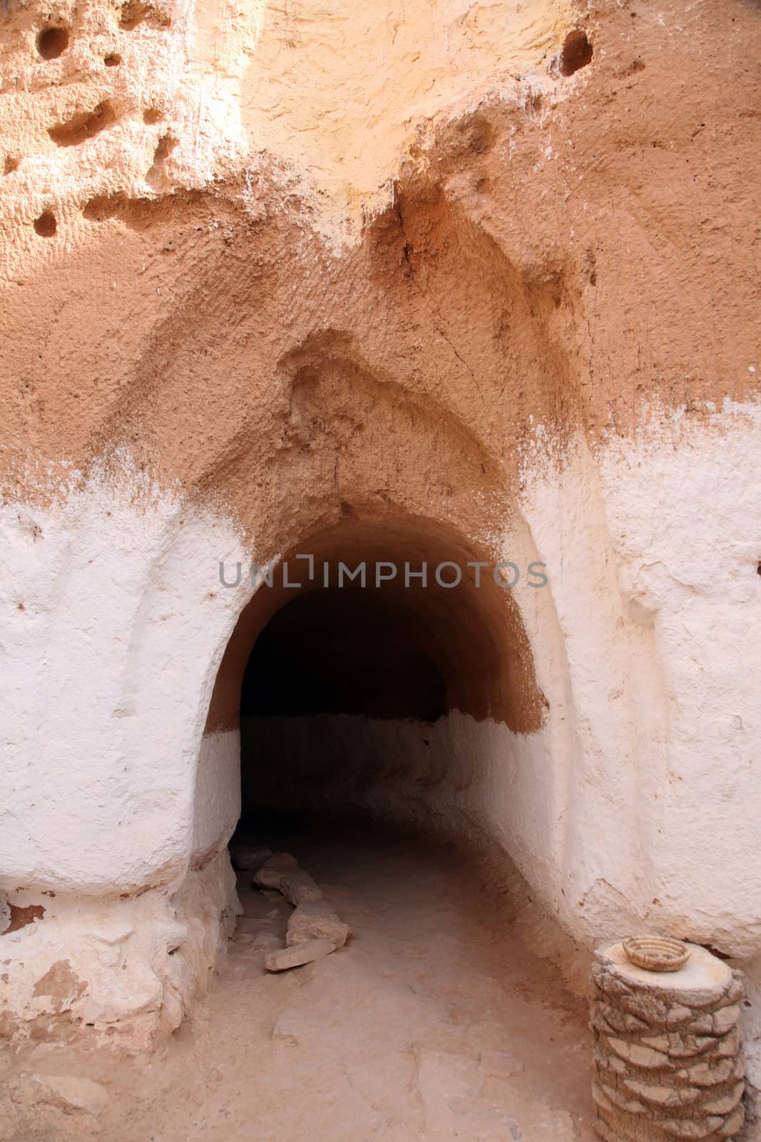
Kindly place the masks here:
POLYGON ((421 763, 407 739, 440 734, 458 692, 439 621, 390 585, 317 588, 276 611, 243 675, 240 830, 273 815, 400 823, 391 802, 421 763))

